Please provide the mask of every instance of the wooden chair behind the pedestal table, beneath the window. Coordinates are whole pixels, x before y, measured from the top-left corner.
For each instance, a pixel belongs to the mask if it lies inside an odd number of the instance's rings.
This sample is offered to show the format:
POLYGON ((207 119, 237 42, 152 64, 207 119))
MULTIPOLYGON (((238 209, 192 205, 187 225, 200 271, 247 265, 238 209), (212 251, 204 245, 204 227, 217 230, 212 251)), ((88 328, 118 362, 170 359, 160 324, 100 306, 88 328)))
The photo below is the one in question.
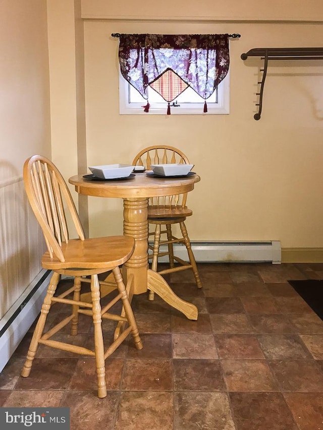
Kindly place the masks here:
MULTIPOLYGON (((190 164, 186 155, 172 146, 168 145, 157 145, 150 146, 140 151, 134 158, 133 165, 142 165, 147 169, 150 169, 151 164, 190 164)), ((195 277, 195 281, 198 288, 202 287, 196 261, 191 248, 191 242, 187 234, 185 226, 186 217, 193 214, 192 210, 186 206, 187 193, 167 196, 167 197, 154 197, 149 199, 148 205, 148 223, 155 225, 154 232, 149 232, 149 235, 154 236, 153 246, 148 245, 148 248, 152 250, 152 255, 149 256, 152 259, 151 269, 158 272, 159 274, 166 274, 172 272, 178 272, 185 269, 192 269, 195 277), (182 237, 174 236, 172 232, 172 225, 179 224, 182 237), (166 230, 161 230, 161 226, 165 225, 166 230), (160 240, 161 234, 166 233, 167 240, 160 240), (189 263, 183 261, 181 258, 174 255, 174 243, 183 243, 187 249, 189 263), (160 245, 167 244, 168 251, 160 252, 160 245), (170 268, 157 271, 158 258, 165 255, 169 256, 170 268), (174 262, 179 263, 179 266, 175 267, 174 262)), ((153 300, 154 293, 150 291, 149 300, 153 300)))

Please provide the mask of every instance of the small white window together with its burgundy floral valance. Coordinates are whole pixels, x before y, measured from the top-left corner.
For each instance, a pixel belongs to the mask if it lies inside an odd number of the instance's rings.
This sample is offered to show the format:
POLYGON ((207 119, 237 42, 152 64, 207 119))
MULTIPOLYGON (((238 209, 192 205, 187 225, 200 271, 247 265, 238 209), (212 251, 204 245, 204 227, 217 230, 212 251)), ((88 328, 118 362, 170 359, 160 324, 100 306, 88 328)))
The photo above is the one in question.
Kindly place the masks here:
POLYGON ((229 62, 229 34, 119 34, 120 113, 229 113, 229 62))

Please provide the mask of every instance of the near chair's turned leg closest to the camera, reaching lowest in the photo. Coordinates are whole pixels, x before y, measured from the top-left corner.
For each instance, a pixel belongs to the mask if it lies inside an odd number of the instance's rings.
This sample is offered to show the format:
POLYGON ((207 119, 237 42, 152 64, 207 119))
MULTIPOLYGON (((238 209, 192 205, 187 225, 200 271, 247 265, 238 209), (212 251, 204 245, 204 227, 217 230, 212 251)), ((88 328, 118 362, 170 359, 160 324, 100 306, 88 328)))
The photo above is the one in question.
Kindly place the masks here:
POLYGON ((102 318, 100 305, 100 285, 97 275, 91 276, 92 317, 94 326, 94 348, 97 375, 97 396, 106 396, 105 360, 102 334, 102 318))

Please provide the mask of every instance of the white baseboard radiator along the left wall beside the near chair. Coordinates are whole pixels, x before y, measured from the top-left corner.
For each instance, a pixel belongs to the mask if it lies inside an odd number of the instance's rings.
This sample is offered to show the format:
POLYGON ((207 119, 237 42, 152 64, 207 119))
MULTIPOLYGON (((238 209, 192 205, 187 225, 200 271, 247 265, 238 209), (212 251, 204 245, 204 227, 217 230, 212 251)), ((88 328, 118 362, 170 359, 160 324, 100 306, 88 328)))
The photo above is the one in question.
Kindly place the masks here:
POLYGON ((0 321, 0 372, 37 318, 51 276, 42 269, 0 321))

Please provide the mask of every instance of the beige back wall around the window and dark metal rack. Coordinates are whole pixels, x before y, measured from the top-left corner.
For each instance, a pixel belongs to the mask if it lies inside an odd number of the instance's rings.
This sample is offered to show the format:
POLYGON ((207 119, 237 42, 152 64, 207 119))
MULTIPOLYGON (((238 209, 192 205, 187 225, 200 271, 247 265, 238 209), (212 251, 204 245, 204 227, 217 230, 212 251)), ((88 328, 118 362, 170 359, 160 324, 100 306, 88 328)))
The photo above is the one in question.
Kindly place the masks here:
MULTIPOLYGON (((323 98, 317 88, 323 62, 271 65, 262 117, 255 121, 261 62, 240 58, 252 47, 322 42, 320 25, 85 22, 88 165, 131 162, 148 145, 177 146, 201 176, 189 196, 192 240, 277 239, 286 248, 322 247, 323 98), (231 113, 119 115, 113 32, 240 33, 230 43, 231 113)), ((120 206, 91 198, 91 234, 120 231, 120 206)))

